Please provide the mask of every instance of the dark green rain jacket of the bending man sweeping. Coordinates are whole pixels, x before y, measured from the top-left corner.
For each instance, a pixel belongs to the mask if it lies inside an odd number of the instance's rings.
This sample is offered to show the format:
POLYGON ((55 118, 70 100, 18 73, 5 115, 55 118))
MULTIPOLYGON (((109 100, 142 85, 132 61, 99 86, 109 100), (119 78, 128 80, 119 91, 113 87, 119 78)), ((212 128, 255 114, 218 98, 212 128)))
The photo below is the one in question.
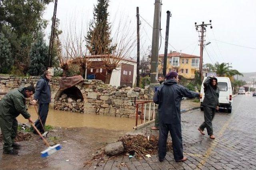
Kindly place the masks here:
POLYGON ((21 93, 24 88, 12 90, 0 100, 0 117, 7 121, 15 119, 22 114, 25 119, 30 118, 26 107, 26 98, 21 93))

